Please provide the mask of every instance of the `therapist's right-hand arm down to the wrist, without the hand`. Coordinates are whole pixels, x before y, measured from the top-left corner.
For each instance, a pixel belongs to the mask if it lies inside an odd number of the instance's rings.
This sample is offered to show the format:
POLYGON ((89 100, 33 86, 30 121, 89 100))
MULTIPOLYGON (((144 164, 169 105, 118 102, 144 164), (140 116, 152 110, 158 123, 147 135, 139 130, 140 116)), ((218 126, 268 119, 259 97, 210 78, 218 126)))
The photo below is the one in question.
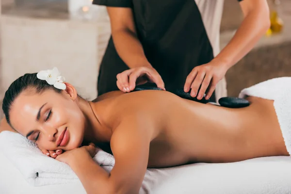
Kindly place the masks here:
POLYGON ((226 47, 213 59, 227 69, 242 59, 270 27, 269 7, 266 0, 242 0, 244 19, 226 47))

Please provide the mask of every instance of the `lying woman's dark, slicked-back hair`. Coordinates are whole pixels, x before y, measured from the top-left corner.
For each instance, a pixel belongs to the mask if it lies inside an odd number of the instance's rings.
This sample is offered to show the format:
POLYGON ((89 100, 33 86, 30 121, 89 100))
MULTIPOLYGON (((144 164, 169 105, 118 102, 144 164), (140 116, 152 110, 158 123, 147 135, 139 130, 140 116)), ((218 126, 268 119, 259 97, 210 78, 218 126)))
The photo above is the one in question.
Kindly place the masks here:
MULTIPOLYGON (((9 112, 11 106, 16 99, 24 90, 35 89, 36 93, 42 93, 45 90, 51 89, 57 93, 61 93, 62 90, 55 88, 53 85, 49 85, 47 81, 40 80, 36 77, 36 73, 27 73, 24 76, 19 77, 16 81, 13 81, 5 92, 3 98, 2 110, 6 117, 7 123, 11 126, 9 112)), ((12 127, 12 126, 11 126, 12 127)), ((13 127, 12 127, 13 128, 13 127)))

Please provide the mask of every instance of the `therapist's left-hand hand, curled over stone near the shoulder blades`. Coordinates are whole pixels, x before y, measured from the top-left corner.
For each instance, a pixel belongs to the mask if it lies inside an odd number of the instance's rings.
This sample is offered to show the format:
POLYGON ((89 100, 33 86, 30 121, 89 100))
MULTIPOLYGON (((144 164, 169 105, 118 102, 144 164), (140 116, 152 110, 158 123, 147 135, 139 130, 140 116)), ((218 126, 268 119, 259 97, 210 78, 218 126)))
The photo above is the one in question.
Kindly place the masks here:
POLYGON ((162 77, 153 67, 142 66, 131 68, 117 74, 116 78, 117 87, 123 92, 130 92, 134 90, 136 85, 145 84, 148 81, 156 83, 158 88, 165 90, 162 77))

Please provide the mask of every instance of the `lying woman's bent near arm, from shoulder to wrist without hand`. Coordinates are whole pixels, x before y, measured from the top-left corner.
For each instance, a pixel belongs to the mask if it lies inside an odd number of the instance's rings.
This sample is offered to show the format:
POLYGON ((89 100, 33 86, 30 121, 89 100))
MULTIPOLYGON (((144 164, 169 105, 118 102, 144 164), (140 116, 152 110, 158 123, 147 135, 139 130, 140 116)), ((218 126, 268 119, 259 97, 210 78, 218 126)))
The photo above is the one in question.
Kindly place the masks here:
MULTIPOLYGON (((139 119, 140 120, 140 119, 139 119)), ((69 165, 88 194, 137 194, 148 162, 152 126, 137 119, 123 120, 113 131, 111 148, 115 165, 110 174, 90 155, 71 160, 69 165)))

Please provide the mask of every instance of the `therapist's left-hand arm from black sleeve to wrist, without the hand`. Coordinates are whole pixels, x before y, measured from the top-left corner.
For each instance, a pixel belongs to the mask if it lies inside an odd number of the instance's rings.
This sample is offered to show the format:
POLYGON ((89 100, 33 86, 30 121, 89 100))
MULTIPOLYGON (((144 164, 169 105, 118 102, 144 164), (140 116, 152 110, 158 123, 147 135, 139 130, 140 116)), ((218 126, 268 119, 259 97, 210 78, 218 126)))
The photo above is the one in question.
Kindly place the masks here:
POLYGON ((150 66, 144 49, 137 38, 133 14, 131 8, 108 7, 107 8, 114 46, 120 58, 129 68, 150 66))

